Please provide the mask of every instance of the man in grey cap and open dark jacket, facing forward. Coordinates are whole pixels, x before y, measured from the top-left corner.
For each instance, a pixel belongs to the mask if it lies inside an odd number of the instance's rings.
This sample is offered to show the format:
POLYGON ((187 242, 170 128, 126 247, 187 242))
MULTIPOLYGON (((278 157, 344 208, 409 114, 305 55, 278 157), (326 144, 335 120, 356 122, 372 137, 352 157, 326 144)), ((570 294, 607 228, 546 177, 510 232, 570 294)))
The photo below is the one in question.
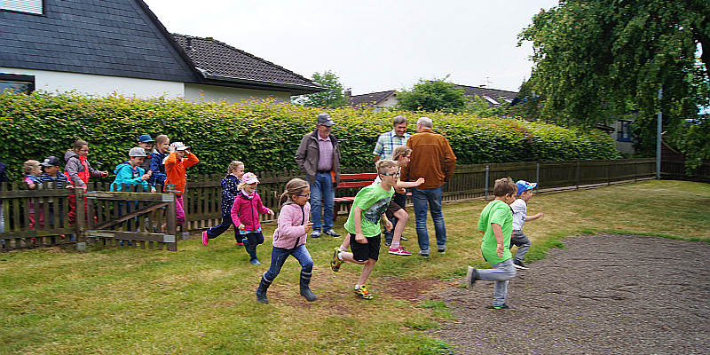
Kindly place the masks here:
POLYGON ((321 233, 340 237, 333 230, 335 186, 340 182, 340 145, 330 134, 333 120, 329 114, 319 114, 316 130, 306 133, 296 151, 296 164, 306 175, 311 185, 312 238, 321 233), (320 216, 320 200, 323 200, 323 218, 320 216))

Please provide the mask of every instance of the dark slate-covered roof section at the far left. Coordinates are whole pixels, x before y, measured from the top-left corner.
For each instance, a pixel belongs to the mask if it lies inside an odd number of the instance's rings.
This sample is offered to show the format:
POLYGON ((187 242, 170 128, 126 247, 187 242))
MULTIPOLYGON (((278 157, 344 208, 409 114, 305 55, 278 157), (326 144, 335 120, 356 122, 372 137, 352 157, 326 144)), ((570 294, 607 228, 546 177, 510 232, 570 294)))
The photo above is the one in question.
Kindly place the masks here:
POLYGON ((200 80, 141 0, 45 1, 43 15, 3 11, 0 19, 3 67, 200 80))

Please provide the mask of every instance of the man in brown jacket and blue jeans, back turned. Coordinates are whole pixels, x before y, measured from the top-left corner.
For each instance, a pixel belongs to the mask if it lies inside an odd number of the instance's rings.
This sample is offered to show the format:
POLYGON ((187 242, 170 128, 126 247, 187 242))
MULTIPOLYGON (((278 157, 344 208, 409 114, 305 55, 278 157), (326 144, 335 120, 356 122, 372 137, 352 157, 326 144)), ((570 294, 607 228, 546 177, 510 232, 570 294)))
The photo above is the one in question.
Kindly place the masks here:
POLYGON ((443 136, 434 133, 433 123, 428 117, 416 122, 416 134, 409 138, 406 146, 412 148, 412 160, 402 169, 404 181, 414 181, 424 177, 426 182, 412 188, 416 234, 419 240, 419 255, 429 256, 429 233, 427 233, 427 208, 431 210, 434 230, 437 234, 438 252, 446 252, 446 225, 441 213, 442 185, 454 176, 456 155, 443 136), (429 207, 427 207, 429 205, 429 207))

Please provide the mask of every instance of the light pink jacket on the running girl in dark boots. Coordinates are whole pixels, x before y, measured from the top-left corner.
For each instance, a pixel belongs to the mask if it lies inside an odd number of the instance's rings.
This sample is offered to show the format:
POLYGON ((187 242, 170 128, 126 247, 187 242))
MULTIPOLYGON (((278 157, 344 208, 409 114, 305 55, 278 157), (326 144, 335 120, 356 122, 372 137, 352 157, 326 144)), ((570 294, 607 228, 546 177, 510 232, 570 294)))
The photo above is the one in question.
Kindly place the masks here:
POLYGON ((309 217, 310 203, 299 206, 290 200, 286 201, 279 212, 279 225, 273 231, 273 246, 292 249, 305 244, 308 236, 305 234, 304 225, 308 224, 309 217))

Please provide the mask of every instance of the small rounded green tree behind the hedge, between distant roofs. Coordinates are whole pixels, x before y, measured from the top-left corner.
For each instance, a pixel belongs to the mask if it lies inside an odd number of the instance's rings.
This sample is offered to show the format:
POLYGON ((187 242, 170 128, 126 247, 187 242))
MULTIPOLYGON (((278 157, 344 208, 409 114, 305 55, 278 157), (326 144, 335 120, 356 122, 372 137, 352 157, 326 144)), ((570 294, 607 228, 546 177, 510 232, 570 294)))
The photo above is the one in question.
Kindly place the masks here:
MULTIPOLYGON (((448 76, 446 76, 448 78, 448 76)), ((466 106, 463 89, 444 79, 419 80, 411 90, 397 93, 398 106, 409 111, 460 112, 466 106)))

